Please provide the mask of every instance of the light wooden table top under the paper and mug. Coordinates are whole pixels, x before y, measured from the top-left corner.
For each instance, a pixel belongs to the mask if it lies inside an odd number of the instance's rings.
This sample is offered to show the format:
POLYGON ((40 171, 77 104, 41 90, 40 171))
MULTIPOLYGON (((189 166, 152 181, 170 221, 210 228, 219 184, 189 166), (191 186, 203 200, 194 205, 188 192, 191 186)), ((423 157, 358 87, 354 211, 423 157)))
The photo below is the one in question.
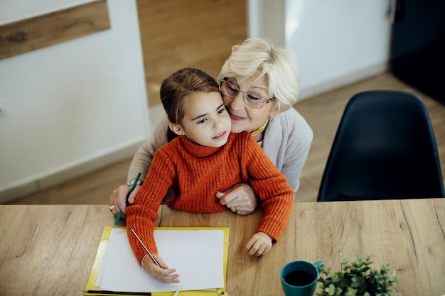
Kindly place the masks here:
MULTIPOLYGON (((107 205, 1 205, 0 295, 82 295, 107 205)), ((390 263, 404 296, 445 295, 445 199, 296 203, 279 243, 262 258, 245 243, 262 217, 232 212, 189 214, 162 206, 159 226, 230 226, 227 292, 283 295, 279 270, 289 261, 322 260, 339 269, 338 252, 373 254, 390 263)), ((181 295, 181 294, 180 294, 181 295)))

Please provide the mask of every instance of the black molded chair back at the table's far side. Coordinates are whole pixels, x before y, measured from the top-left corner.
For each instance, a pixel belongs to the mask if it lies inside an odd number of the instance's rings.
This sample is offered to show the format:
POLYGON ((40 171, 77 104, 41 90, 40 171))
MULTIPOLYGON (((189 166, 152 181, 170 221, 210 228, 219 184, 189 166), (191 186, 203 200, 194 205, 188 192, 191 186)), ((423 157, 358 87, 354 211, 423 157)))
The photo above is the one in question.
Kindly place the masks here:
POLYGON ((355 94, 343 113, 318 202, 445 197, 422 99, 399 91, 355 94))

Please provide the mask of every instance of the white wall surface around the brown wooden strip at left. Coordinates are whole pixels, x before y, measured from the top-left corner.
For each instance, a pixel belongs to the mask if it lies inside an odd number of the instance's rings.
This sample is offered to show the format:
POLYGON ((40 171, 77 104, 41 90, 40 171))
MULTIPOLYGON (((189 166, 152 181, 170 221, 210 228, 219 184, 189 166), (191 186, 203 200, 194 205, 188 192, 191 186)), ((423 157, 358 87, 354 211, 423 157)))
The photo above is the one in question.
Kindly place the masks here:
MULTIPOLYGON (((0 23, 82 2, 3 0, 0 23)), ((108 9, 109 30, 0 60, 0 202, 127 158, 149 136, 136 1, 108 9)))

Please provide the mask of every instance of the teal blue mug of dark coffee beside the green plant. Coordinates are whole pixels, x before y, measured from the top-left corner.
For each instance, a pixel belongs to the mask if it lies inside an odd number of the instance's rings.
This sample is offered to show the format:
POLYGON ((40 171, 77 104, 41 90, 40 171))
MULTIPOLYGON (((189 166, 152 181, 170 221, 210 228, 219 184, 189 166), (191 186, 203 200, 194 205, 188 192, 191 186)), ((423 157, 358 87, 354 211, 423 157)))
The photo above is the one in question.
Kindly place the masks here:
POLYGON ((280 273, 284 295, 313 296, 323 266, 323 261, 292 261, 284 265, 280 273))

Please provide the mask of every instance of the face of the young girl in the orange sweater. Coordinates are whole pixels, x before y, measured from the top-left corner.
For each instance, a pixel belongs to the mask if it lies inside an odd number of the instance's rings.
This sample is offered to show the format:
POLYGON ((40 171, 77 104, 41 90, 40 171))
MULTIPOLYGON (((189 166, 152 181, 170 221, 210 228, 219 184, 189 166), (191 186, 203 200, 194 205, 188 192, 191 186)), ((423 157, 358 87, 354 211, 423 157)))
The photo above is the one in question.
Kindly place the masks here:
POLYGON ((172 130, 202 146, 220 147, 230 133, 230 116, 219 92, 195 92, 183 104, 184 118, 172 130), (176 132, 176 128, 178 132, 176 132))

